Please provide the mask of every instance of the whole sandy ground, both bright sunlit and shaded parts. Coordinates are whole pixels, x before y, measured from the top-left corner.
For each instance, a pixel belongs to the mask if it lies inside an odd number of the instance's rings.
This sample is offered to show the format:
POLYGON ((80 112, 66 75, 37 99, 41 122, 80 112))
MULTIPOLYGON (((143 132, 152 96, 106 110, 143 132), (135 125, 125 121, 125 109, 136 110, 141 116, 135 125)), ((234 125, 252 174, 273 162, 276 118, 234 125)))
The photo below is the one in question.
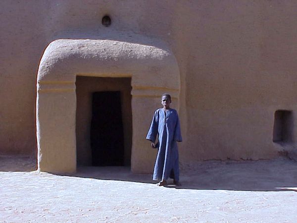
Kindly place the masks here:
POLYGON ((297 162, 287 158, 183 166, 179 188, 128 167, 34 168, 0 157, 0 222, 297 222, 297 162))

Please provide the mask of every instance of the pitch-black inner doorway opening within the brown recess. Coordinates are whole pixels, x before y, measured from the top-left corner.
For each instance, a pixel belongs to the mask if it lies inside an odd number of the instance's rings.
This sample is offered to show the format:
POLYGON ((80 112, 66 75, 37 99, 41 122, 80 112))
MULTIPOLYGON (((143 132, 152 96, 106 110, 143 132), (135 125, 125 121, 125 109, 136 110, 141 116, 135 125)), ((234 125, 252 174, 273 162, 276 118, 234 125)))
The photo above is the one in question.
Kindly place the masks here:
POLYGON ((123 166, 121 92, 93 93, 91 148, 93 166, 123 166))

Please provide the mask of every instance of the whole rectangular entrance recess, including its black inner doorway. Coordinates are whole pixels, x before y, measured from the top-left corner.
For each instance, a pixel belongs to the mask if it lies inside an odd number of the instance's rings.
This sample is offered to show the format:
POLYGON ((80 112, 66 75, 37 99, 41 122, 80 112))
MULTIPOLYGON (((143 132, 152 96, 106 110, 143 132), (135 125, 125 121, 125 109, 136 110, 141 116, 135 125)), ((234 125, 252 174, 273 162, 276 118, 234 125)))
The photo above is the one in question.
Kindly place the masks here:
POLYGON ((77 166, 130 166, 131 78, 77 76, 76 95, 77 166))

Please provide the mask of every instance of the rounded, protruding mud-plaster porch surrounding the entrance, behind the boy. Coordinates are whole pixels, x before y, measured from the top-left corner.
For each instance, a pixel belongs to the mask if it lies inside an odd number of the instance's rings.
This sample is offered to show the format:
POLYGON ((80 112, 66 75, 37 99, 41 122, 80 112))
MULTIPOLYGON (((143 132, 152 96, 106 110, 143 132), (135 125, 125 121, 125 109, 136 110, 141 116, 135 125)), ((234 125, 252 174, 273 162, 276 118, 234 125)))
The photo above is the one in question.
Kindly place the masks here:
MULTIPOLYGON (((129 36, 131 39, 131 36, 129 36)), ((76 76, 131 77, 134 172, 150 172, 154 151, 145 140, 159 97, 170 93, 178 109, 179 68, 161 41, 55 40, 47 47, 37 78, 38 169, 76 171, 76 76), (156 47, 158 46, 158 47, 156 47)))

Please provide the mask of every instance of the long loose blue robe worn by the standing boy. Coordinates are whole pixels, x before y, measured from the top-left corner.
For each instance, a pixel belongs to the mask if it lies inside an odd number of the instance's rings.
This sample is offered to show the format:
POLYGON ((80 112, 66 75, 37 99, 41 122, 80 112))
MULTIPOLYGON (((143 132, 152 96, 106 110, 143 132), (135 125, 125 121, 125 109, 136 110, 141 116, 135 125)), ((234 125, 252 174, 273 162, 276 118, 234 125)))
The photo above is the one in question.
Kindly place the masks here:
POLYGON ((177 142, 182 141, 177 111, 158 109, 154 112, 147 139, 155 142, 159 135, 158 154, 153 170, 153 180, 179 180, 177 142))

